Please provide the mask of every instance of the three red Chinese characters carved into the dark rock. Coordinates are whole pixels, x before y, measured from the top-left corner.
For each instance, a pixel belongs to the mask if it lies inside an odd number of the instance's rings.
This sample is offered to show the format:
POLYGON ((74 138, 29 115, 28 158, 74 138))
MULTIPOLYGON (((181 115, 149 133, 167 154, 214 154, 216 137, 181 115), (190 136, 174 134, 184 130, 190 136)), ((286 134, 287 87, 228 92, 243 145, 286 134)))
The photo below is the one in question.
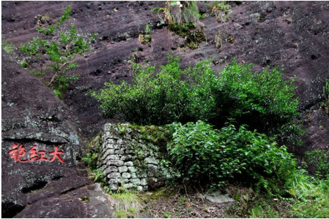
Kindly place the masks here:
POLYGON ((7 151, 7 153, 10 154, 10 158, 15 160, 15 162, 19 161, 21 163, 27 163, 27 162, 33 162, 34 160, 36 160, 36 162, 39 161, 54 162, 54 160, 59 160, 60 163, 66 163, 59 156, 60 154, 64 154, 64 151, 59 151, 57 145, 54 146, 55 148, 54 151, 51 151, 49 153, 51 157, 49 159, 47 156, 45 156, 45 153, 47 153, 47 151, 37 151, 36 145, 32 146, 32 148, 29 150, 29 158, 23 158, 27 154, 27 151, 25 150, 23 144, 20 144, 20 146, 18 146, 17 143, 14 143, 12 147, 13 149, 7 151))

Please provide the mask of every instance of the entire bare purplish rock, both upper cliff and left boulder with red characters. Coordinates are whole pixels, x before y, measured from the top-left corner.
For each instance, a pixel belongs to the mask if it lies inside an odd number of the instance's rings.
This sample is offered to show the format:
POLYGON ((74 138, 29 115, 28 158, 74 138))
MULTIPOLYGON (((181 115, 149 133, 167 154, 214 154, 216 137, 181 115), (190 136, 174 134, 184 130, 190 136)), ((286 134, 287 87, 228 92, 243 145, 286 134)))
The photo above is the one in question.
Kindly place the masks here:
MULTIPOLYGON (((323 101, 323 85, 329 78, 328 1, 232 3, 228 22, 217 22, 212 16, 201 20, 207 40, 196 50, 151 14, 152 8, 164 7, 164 1, 2 1, 1 38, 16 47, 27 43, 37 36, 37 15, 49 14, 55 20, 68 4, 73 9, 70 22, 82 31, 98 33, 98 39, 94 50, 79 58, 75 74, 80 80, 66 91, 64 102, 17 65, 17 59, 22 60, 19 50, 15 50, 15 60, 1 51, 3 217, 76 218, 96 211, 79 199, 99 194, 76 163, 85 148, 84 137, 92 139, 105 123, 117 120, 104 119, 96 100, 86 93, 98 91, 108 80, 130 82, 131 57, 138 63, 163 64, 166 54, 174 52, 182 57, 182 67, 214 58, 215 70, 233 59, 255 63, 256 70, 279 66, 286 77, 297 77, 301 119, 310 130, 295 153, 328 148, 328 114, 317 105, 323 101), (152 42, 142 45, 138 36, 147 23, 152 27, 152 42), (15 156, 17 151, 11 151, 15 149, 22 153, 15 156), (56 151, 58 156, 54 156, 56 151), (42 155, 47 160, 40 159, 42 155), (54 203, 65 206, 62 213, 54 203), (47 214, 50 204, 54 213, 47 214), (78 211, 71 211, 73 206, 78 211)), ((199 8, 210 14, 205 3, 199 3, 199 8)))

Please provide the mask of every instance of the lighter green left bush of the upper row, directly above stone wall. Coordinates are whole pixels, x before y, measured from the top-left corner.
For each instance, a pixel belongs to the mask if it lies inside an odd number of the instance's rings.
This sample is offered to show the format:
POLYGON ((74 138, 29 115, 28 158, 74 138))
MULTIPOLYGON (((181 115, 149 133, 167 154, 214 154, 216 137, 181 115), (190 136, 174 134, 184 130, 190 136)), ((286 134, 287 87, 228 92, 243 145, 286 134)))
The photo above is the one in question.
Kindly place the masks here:
POLYGON ((142 125, 163 125, 173 121, 207 119, 214 115, 210 84, 217 80, 210 61, 182 70, 180 59, 169 55, 166 66, 134 65, 133 84, 105 83, 106 88, 92 96, 100 100, 104 116, 124 113, 126 121, 142 125), (204 75, 198 73, 204 72, 204 75), (188 80, 182 80, 187 75, 188 80))

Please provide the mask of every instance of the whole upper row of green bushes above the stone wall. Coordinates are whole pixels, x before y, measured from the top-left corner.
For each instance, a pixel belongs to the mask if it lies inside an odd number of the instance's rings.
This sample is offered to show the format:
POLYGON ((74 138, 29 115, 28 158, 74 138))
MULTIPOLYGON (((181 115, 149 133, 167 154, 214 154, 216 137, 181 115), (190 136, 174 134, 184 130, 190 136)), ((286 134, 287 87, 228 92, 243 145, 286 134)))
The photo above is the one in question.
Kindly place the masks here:
POLYGON ((124 113, 126 121, 143 125, 198 119, 224 125, 235 118, 267 132, 299 115, 293 80, 284 80, 277 69, 254 73, 252 65, 233 61, 218 77, 209 59, 185 70, 179 60, 170 54, 159 69, 135 65, 133 84, 108 82, 92 96, 101 102, 104 116, 124 113))

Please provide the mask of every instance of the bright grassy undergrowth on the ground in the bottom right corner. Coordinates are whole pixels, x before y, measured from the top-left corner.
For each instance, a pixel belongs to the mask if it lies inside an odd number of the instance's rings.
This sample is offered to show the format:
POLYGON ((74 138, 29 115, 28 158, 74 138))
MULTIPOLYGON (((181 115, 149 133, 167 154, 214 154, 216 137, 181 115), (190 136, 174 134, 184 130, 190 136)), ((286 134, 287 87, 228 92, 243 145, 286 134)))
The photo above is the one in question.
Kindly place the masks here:
MULTIPOLYGON (((328 218, 329 181, 309 176, 305 169, 290 169, 284 175, 280 192, 248 192, 231 186, 232 195, 239 195, 237 204, 228 209, 233 217, 247 218, 328 218), (246 194, 247 193, 247 194, 246 194), (237 213, 237 214, 236 214, 237 213)), ((269 186, 276 186, 271 183, 269 186)))

